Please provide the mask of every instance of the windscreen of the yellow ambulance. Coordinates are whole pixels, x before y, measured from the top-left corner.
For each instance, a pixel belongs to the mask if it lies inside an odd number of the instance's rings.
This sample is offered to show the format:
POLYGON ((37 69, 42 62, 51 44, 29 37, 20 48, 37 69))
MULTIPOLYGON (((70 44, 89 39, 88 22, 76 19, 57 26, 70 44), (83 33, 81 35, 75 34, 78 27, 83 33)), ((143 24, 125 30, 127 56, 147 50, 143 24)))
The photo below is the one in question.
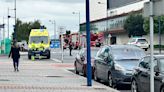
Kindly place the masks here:
POLYGON ((47 44, 48 43, 48 37, 47 36, 31 36, 30 37, 30 43, 43 43, 47 44))

